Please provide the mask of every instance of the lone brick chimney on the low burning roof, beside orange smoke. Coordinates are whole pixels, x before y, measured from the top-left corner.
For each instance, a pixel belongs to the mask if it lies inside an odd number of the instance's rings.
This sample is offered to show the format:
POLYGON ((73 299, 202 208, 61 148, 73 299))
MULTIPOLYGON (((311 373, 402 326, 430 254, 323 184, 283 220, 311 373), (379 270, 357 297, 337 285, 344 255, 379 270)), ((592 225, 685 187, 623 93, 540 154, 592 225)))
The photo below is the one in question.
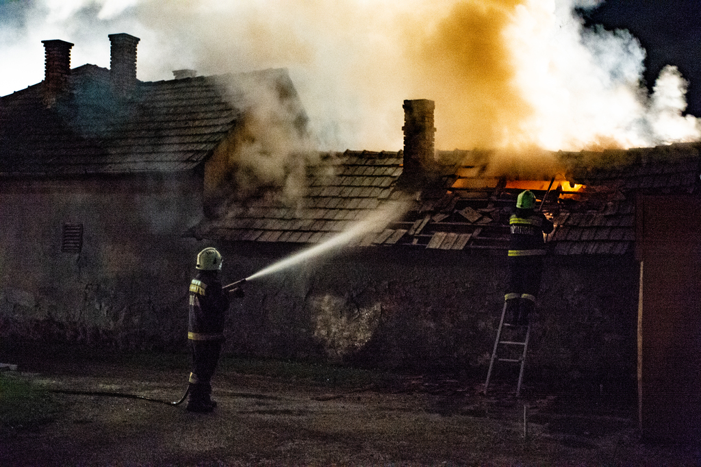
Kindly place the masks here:
POLYGON ((404 169, 401 185, 421 189, 435 178, 437 163, 433 149, 433 100, 405 100, 404 169))

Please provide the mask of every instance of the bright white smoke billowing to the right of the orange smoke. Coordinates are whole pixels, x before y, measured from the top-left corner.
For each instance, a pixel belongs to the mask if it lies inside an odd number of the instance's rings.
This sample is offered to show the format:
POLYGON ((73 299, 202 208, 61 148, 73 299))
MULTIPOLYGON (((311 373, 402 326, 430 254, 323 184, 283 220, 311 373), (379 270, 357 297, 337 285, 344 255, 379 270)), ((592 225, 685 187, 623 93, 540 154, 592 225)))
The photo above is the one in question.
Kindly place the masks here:
POLYGON ((505 34, 517 64, 516 86, 533 118, 524 121, 518 139, 505 143, 580 150, 697 140, 697 119, 681 114, 681 74, 664 69, 648 97, 639 41, 625 30, 585 29, 573 6, 585 5, 528 0, 516 8, 505 34))

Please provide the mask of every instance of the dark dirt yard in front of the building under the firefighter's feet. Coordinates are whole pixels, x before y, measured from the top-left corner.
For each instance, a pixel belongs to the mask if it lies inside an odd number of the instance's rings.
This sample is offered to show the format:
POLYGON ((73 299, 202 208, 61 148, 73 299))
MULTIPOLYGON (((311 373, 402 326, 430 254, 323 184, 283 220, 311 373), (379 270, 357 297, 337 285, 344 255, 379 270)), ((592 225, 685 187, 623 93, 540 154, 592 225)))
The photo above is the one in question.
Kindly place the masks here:
MULTIPOLYGON (((50 359, 49 359, 50 360, 50 359)), ((34 360, 36 363, 36 360, 34 360)), ((187 369, 20 363, 8 377, 54 389, 178 400, 187 369)), ((0 431, 2 466, 699 466, 699 449, 639 442, 635 407, 615 400, 485 397, 477 381, 406 376, 339 388, 224 365, 219 407, 53 393, 62 409, 0 431), (524 436, 524 405, 526 431, 524 436)))

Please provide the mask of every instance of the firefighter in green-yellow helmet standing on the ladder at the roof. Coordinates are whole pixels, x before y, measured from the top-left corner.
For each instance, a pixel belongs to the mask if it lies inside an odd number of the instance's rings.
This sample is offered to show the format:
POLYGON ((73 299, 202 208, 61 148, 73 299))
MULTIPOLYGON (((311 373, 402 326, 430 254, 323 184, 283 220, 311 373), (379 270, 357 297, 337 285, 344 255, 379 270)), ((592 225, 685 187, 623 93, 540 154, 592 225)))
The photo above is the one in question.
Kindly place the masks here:
POLYGON ((527 326, 529 313, 536 308, 536 296, 543 275, 545 240, 552 222, 536 211, 536 196, 526 190, 516 200, 516 213, 509 219, 509 280, 504 299, 506 321, 513 326, 527 326))

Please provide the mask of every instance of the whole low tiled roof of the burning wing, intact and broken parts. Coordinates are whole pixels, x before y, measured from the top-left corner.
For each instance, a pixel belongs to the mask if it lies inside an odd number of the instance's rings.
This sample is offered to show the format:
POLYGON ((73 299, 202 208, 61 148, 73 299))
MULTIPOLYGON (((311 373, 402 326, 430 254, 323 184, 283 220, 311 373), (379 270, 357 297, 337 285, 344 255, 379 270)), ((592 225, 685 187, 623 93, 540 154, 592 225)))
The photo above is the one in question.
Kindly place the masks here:
POLYGON ((561 152, 557 158, 566 169, 555 180, 489 176, 481 154, 439 151, 439 160, 461 162, 440 165, 440 176, 420 191, 401 188, 402 151, 327 154, 327 165, 315 168, 296 208, 264 196, 234 205, 226 218, 203 222, 195 232, 226 241, 320 243, 384 201, 403 198, 409 210, 401 219, 388 220, 355 244, 504 254, 517 195, 531 189, 555 224, 547 236, 554 255, 625 255, 634 250, 638 194, 699 193, 699 148, 561 152))

